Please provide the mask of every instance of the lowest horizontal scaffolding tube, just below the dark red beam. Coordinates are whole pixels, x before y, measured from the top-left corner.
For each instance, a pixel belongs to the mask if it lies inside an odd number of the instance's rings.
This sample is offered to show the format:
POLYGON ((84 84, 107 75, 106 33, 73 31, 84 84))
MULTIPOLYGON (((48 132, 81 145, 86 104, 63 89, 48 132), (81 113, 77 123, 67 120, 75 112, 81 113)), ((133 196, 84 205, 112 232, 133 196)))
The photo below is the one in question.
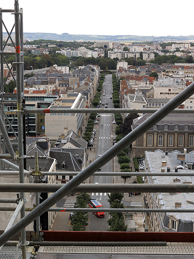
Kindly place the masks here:
MULTIPOLYGON (((8 241, 5 243, 5 245, 16 245, 18 242, 17 241, 8 241)), ((30 241, 29 242, 29 245, 33 246, 33 245, 40 245, 40 246, 43 246, 43 245, 69 245, 69 246, 78 246, 78 245, 84 245, 84 246, 87 246, 87 245, 92 245, 92 246, 96 246, 96 245, 103 245, 103 246, 113 246, 113 245, 121 245, 121 246, 129 246, 129 245, 136 245, 136 246, 152 246, 152 245, 162 245, 162 246, 165 246, 166 245, 166 242, 118 242, 118 241, 114 241, 114 242, 89 242, 89 241, 84 241, 84 242, 79 242, 79 241, 66 241, 66 242, 63 242, 63 241, 37 241, 37 242, 33 242, 33 241, 30 241)))

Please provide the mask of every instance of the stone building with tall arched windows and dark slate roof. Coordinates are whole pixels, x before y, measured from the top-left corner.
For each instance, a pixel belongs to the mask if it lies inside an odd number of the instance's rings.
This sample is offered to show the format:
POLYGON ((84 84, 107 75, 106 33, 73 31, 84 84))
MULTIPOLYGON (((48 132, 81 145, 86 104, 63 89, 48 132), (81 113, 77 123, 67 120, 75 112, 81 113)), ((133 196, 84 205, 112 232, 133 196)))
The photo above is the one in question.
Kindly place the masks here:
MULTIPOLYGON (((163 105, 163 104, 161 104, 163 105)), ((144 114, 133 120, 132 129, 135 129, 151 114, 144 114)), ((178 152, 194 151, 194 124, 193 114, 169 114, 151 127, 141 137, 132 143, 133 156, 143 156, 145 151, 178 152)))

